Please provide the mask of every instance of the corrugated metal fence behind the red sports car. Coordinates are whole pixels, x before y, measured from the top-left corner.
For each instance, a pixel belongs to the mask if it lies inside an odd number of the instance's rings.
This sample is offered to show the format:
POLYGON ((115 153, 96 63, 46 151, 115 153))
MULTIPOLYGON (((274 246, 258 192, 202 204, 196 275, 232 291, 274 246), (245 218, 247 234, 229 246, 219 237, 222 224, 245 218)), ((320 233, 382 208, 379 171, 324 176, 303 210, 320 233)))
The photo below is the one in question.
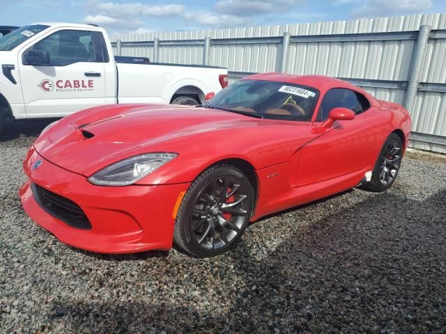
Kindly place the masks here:
MULTIPOLYGON (((414 148, 446 153, 446 14, 116 35, 115 52, 255 72, 323 74, 403 104, 414 148)), ((206 93, 206 92, 205 92, 206 93)))

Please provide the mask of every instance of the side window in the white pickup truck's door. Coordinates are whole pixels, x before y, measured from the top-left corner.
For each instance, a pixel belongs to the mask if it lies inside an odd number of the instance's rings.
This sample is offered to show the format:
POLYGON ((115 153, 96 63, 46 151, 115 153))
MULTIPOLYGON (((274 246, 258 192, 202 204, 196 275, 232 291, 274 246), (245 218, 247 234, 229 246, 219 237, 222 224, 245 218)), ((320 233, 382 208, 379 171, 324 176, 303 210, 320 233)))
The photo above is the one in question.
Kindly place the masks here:
POLYGON ((94 31, 57 31, 37 42, 33 49, 45 50, 49 54, 50 65, 63 66, 79 62, 104 62, 100 40, 94 31))

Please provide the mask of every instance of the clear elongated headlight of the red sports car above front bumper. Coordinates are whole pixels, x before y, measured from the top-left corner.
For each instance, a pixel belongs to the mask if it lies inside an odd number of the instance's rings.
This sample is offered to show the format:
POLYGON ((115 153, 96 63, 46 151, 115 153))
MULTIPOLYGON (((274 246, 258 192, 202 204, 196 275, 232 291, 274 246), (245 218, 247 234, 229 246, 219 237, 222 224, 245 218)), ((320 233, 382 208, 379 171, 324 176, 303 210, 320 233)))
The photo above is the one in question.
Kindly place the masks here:
POLYGON ((89 181, 98 186, 128 186, 178 156, 176 153, 147 153, 116 162, 98 171, 89 181))

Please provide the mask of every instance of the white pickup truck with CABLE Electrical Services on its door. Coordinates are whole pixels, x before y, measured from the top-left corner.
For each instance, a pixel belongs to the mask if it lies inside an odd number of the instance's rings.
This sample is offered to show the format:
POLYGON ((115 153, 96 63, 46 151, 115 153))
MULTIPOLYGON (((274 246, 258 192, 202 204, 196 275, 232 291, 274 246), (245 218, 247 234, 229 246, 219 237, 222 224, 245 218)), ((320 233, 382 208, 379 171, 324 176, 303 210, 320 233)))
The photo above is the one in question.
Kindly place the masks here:
POLYGON ((199 104, 228 82, 223 67, 115 58, 105 30, 89 24, 23 26, 0 38, 0 66, 0 132, 101 104, 199 104))

